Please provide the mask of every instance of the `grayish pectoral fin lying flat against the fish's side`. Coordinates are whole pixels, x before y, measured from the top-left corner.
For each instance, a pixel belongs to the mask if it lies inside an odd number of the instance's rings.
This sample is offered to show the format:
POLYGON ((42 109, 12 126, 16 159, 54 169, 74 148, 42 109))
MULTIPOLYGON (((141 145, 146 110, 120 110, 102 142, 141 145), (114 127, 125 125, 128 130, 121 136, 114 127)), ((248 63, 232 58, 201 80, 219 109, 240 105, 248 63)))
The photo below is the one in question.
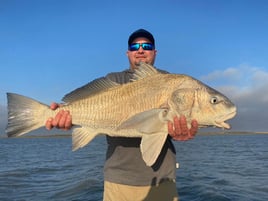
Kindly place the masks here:
POLYGON ((130 119, 124 121, 119 127, 120 129, 136 129, 141 133, 157 133, 167 131, 167 122, 172 120, 169 109, 151 109, 134 115, 130 119))

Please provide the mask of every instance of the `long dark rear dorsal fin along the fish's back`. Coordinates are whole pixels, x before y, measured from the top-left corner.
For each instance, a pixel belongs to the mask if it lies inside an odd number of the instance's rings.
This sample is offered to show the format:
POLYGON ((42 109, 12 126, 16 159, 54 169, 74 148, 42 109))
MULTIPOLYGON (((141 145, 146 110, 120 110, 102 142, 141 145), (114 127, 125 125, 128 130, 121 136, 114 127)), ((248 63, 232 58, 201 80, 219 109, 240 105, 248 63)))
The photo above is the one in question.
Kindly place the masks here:
POLYGON ((103 90, 118 86, 116 82, 111 81, 106 77, 98 78, 89 82, 88 84, 73 90, 72 92, 66 94, 62 101, 70 103, 73 101, 81 100, 83 98, 92 96, 94 94, 100 93, 103 90))

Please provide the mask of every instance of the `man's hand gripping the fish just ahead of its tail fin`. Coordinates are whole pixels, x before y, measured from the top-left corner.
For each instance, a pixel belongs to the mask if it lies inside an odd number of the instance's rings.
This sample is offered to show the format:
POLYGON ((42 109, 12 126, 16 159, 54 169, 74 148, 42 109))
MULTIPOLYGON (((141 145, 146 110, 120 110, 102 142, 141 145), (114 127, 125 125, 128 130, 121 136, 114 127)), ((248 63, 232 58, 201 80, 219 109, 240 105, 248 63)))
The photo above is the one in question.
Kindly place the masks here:
MULTIPOLYGON (((50 105, 52 110, 56 110, 58 107, 60 107, 60 104, 57 103, 51 103, 50 105)), ((61 130, 69 130, 72 127, 72 115, 69 110, 60 110, 54 118, 48 118, 45 126, 47 130, 51 130, 54 127, 61 130)))

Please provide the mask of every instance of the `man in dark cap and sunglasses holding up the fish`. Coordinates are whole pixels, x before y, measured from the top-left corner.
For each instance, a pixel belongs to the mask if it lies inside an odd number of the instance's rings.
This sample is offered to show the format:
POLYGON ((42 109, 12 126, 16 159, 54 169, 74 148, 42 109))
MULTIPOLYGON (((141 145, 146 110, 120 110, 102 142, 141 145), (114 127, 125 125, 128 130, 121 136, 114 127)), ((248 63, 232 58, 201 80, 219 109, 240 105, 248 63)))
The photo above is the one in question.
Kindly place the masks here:
MULTIPOLYGON (((130 81, 135 68, 140 62, 153 65, 156 58, 153 35, 139 29, 133 32, 128 40, 128 70, 110 73, 106 77, 114 82, 124 84, 130 81)), ((165 71, 159 70, 162 73, 165 71)), ((53 103, 51 109, 56 109, 53 103)), ((46 122, 46 128, 58 127, 70 129, 72 125, 69 111, 61 110, 55 118, 46 122)), ((194 137, 198 124, 192 122, 187 128, 185 117, 175 117, 168 123, 169 136, 161 154, 152 167, 146 166, 140 152, 140 138, 107 136, 108 149, 104 166, 104 201, 175 201, 176 190, 176 157, 171 139, 188 140, 194 137)))

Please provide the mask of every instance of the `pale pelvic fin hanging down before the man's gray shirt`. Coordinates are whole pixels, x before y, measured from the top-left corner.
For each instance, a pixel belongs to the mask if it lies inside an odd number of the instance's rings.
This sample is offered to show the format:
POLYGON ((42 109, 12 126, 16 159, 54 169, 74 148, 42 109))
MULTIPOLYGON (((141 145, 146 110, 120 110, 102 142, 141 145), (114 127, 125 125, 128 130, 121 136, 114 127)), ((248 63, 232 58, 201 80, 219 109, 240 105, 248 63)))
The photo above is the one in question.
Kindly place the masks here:
POLYGON ((152 166, 160 152, 167 138, 167 133, 158 133, 154 135, 144 135, 141 140, 141 154, 147 166, 152 166))

